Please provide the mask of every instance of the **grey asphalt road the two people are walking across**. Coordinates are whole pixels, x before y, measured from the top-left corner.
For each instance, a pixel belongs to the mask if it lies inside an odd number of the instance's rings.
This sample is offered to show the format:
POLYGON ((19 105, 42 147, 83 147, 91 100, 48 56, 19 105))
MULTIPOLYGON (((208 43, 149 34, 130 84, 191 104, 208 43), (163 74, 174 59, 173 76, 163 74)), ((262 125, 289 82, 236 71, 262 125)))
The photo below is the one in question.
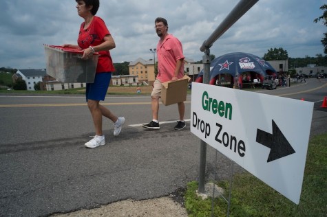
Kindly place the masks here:
MULTIPOLYGON (((260 93, 315 102, 310 135, 327 132, 327 109, 320 107, 327 79, 260 93)), ((83 96, 0 95, 0 216, 48 216, 156 198, 198 180, 200 140, 189 122, 185 130, 173 130, 176 105, 160 105, 160 130, 149 131, 140 126, 151 120, 148 95, 108 96, 103 104, 126 117, 125 127, 114 137, 105 119, 107 145, 87 149, 83 144, 94 129, 83 96)), ((215 150, 208 146, 207 179, 214 165, 215 150)), ((218 165, 218 179, 226 179, 229 160, 218 154, 218 165)))

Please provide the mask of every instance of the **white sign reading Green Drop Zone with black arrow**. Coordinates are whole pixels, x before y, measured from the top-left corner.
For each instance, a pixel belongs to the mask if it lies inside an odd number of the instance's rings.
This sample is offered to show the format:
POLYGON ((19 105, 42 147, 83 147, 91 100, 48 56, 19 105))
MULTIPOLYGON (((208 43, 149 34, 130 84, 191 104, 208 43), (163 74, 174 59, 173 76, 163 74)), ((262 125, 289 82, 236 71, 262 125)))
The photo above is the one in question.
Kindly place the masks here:
POLYGON ((191 132, 296 204, 313 103, 192 83, 191 132))

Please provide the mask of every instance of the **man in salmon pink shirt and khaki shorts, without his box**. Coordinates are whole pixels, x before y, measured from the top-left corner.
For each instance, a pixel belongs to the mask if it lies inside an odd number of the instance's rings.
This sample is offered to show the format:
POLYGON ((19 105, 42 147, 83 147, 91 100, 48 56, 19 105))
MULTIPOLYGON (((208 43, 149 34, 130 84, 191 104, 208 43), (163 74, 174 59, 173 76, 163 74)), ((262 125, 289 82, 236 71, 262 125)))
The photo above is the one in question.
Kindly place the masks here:
MULTIPOLYGON (((160 37, 157 45, 158 76, 156 77, 151 93, 152 121, 149 124, 143 124, 143 127, 151 130, 159 130, 158 111, 162 82, 178 80, 184 76, 184 55, 182 52, 182 43, 180 43, 178 38, 168 34, 167 20, 158 17, 154 21, 154 24, 156 33, 160 37)), ((180 119, 174 127, 175 130, 185 128, 184 112, 184 102, 178 102, 180 119)))

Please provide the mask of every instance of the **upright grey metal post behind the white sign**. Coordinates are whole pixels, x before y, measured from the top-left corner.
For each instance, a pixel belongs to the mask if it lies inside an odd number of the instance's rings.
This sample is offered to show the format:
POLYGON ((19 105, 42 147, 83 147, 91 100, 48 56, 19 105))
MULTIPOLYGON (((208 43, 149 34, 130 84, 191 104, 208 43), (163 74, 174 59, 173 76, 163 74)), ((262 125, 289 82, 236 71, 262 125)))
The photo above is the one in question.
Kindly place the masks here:
MULTIPOLYGON (((205 55, 202 58, 203 62, 203 83, 209 84, 210 80, 210 49, 206 49, 205 55)), ((206 175, 207 161, 207 144, 201 140, 200 142, 200 175, 199 175, 199 193, 204 193, 204 183, 206 175)))

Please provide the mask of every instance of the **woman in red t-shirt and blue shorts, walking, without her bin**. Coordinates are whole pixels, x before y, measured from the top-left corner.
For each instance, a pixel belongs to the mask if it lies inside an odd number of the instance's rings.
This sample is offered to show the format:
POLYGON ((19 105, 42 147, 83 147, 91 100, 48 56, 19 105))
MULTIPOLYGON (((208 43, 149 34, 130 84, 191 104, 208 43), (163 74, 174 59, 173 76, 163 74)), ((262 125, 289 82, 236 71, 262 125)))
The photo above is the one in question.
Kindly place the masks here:
POLYGON ((92 58, 98 52, 98 65, 94 83, 86 84, 86 101, 92 115, 95 136, 87 141, 87 148, 96 148, 105 145, 105 135, 102 130, 102 117, 105 116, 114 122, 114 135, 117 136, 125 123, 124 117, 117 117, 105 106, 99 104, 100 100, 105 100, 105 95, 112 78, 114 64, 110 56, 110 49, 114 49, 116 44, 112 34, 110 34, 103 19, 96 15, 99 8, 99 0, 76 0, 78 15, 84 19, 78 34, 78 45, 65 44, 63 47, 74 47, 83 50, 83 59, 92 58))

